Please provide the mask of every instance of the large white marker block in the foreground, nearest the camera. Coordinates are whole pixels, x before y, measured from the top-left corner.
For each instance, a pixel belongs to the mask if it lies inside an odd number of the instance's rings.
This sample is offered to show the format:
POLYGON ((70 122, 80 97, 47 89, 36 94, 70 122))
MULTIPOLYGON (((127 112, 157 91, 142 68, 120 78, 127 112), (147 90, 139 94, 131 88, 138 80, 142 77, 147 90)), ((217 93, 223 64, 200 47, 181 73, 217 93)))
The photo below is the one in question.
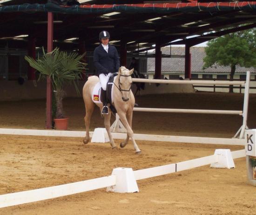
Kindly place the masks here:
POLYGON ((132 168, 115 168, 112 171, 112 175, 116 176, 116 185, 107 187, 107 191, 116 193, 139 192, 132 168))

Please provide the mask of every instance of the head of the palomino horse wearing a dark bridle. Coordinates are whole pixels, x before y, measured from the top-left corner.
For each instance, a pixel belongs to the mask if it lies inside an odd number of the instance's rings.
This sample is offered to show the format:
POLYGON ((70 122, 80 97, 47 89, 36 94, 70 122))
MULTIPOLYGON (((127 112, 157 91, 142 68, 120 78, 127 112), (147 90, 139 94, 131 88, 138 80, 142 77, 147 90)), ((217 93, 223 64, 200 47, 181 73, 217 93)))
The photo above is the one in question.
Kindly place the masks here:
POLYGON ((129 100, 129 93, 132 85, 132 75, 133 69, 128 70, 126 67, 121 66, 118 71, 118 79, 119 79, 119 90, 122 94, 122 100, 129 100))

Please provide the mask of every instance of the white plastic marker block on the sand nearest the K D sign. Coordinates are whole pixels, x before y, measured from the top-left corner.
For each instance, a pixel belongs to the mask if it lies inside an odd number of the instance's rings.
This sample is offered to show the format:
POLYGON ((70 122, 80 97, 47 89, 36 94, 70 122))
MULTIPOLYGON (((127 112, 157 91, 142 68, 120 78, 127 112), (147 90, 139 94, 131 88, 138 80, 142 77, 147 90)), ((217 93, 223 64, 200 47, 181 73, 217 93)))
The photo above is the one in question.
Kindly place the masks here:
POLYGON ((210 167, 213 168, 235 168, 235 163, 233 161, 233 157, 231 155, 230 150, 226 149, 218 149, 215 150, 214 155, 218 156, 218 162, 212 163, 210 167))

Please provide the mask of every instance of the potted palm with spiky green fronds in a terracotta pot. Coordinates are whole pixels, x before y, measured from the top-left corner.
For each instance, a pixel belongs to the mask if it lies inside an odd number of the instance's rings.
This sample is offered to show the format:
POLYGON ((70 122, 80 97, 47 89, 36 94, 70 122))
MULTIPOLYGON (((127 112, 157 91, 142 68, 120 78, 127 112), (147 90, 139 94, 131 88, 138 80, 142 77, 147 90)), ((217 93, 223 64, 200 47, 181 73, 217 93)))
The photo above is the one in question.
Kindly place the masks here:
POLYGON ((29 65, 39 72, 38 80, 47 77, 51 79, 56 101, 56 112, 53 113, 56 129, 67 130, 68 118, 64 116, 62 104, 65 96, 63 87, 66 84, 73 84, 79 93, 76 81, 81 78, 81 74, 85 71, 86 64, 81 62, 84 56, 85 53, 78 55, 77 53, 61 52, 59 48, 55 48, 49 53, 45 53, 43 49, 43 55, 37 60, 25 56, 29 65), (66 125, 63 127, 59 123, 66 125))

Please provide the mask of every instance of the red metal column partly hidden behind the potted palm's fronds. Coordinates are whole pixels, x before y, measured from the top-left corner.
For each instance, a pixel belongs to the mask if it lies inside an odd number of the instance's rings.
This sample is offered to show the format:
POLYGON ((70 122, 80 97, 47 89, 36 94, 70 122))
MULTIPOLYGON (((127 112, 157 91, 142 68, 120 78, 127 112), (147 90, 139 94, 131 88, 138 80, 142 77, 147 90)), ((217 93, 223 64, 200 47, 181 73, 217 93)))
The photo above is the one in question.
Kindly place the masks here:
MULTIPOLYGON (((48 24, 47 24, 47 52, 53 51, 53 39, 54 39, 54 15, 52 12, 48 12, 48 24)), ((46 88, 46 128, 52 128, 52 83, 50 77, 47 77, 46 88)))

